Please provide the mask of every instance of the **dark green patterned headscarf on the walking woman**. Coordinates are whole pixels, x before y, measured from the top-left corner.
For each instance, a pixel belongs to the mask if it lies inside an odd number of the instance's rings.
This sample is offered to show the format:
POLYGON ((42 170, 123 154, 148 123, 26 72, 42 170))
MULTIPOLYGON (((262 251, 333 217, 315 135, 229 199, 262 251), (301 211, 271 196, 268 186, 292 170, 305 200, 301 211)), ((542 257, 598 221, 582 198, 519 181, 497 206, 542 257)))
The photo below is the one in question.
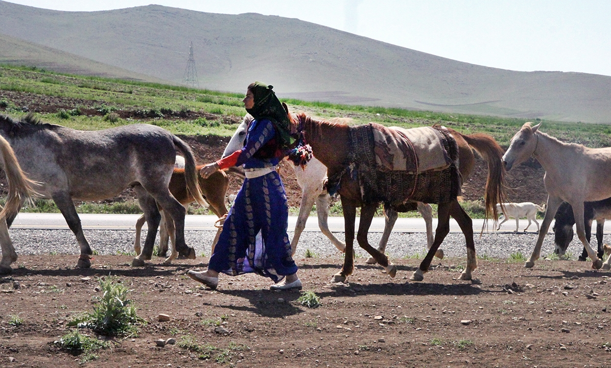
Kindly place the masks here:
POLYGON ((246 109, 256 120, 268 119, 276 128, 276 139, 280 150, 291 148, 295 139, 291 137, 291 124, 288 120, 287 112, 282 107, 282 103, 272 90, 273 85, 266 85, 262 82, 254 82, 248 86, 254 96, 255 104, 252 109, 246 109))

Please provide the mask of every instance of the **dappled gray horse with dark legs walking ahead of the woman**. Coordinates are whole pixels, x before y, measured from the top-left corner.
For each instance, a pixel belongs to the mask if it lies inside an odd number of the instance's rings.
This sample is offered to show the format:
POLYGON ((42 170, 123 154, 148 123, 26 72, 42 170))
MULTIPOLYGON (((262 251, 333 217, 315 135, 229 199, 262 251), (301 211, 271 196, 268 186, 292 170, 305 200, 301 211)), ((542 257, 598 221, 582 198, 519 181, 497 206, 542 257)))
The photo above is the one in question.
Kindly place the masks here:
MULTIPOLYGON (((185 156, 187 189, 199 203, 204 201, 191 148, 174 134, 148 124, 78 131, 42 123, 29 114, 21 121, 0 115, 0 135, 12 145, 23 171, 42 184, 37 192, 53 199, 75 233, 81 247, 76 267, 90 267, 92 250, 73 200, 102 200, 127 187, 136 191, 148 223, 144 248, 132 265, 144 265, 152 257, 161 220, 156 203, 174 219, 178 254, 195 258, 195 250, 185 244, 185 207, 168 189, 177 150, 185 156)), ((9 226, 14 218, 7 218, 9 226)))

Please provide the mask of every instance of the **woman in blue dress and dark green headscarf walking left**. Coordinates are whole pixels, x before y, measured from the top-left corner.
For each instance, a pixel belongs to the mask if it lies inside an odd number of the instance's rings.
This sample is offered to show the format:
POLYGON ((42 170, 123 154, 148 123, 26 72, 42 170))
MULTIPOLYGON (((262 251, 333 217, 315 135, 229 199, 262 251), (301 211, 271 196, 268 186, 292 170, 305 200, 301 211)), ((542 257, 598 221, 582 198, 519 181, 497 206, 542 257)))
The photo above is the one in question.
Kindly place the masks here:
POLYGON ((272 88, 261 82, 248 86, 244 107, 255 120, 248 128, 246 145, 200 170, 207 178, 216 170, 244 165, 246 173, 208 270, 188 272, 211 289, 218 286, 219 272, 232 276, 256 272, 274 281, 270 289, 302 287, 287 235, 287 195, 276 171, 290 148, 290 121, 272 88), (257 242, 259 231, 263 241, 257 242))

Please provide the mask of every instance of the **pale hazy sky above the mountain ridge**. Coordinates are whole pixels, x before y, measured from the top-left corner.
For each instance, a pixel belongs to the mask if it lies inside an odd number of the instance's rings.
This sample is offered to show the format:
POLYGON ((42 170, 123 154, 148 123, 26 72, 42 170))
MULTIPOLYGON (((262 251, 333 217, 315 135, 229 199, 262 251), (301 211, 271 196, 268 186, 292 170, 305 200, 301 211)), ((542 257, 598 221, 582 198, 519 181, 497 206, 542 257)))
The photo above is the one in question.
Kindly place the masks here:
POLYGON ((159 4, 280 15, 463 62, 510 70, 611 76, 607 0, 10 0, 95 11, 159 4))

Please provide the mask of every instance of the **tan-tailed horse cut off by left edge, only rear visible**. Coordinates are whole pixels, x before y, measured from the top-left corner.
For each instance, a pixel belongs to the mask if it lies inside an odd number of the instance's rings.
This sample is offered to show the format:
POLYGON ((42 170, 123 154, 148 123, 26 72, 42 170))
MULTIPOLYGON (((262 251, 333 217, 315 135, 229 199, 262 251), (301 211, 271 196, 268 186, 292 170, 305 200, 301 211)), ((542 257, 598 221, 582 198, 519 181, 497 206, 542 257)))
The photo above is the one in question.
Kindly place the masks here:
POLYGON ((0 275, 11 273, 10 264, 17 260, 17 252, 13 247, 13 242, 10 240, 9 228, 6 224, 7 217, 15 217, 21 207, 21 202, 24 198, 29 198, 37 195, 34 191, 36 183, 28 179, 19 162, 15 157, 15 153, 9 142, 0 135, 0 154, 2 161, 0 165, 6 175, 8 186, 8 197, 4 208, 0 206, 0 246, 2 248, 2 261, 0 261, 0 275))

